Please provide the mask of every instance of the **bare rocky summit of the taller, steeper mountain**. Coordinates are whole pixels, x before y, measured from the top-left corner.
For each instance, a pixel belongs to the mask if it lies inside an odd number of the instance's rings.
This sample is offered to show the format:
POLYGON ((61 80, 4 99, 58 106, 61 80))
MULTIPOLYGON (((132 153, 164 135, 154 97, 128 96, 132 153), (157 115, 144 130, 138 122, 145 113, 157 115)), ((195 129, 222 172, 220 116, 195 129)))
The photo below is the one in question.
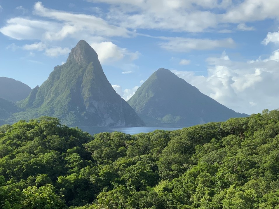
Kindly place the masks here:
POLYGON ((74 48, 72 48, 67 62, 75 60, 79 64, 100 63, 98 55, 93 48, 84 40, 80 40, 74 48))

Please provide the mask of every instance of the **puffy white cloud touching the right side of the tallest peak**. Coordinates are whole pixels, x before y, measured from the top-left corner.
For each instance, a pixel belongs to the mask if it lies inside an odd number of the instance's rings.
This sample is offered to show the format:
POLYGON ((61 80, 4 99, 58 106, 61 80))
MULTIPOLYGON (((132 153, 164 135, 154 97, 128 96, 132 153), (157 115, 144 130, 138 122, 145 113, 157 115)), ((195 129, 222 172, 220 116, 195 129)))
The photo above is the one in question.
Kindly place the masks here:
POLYGON ((140 52, 129 52, 125 48, 120 48, 111 41, 92 43, 91 47, 97 52, 101 64, 111 64, 122 59, 131 62, 138 59, 140 52))

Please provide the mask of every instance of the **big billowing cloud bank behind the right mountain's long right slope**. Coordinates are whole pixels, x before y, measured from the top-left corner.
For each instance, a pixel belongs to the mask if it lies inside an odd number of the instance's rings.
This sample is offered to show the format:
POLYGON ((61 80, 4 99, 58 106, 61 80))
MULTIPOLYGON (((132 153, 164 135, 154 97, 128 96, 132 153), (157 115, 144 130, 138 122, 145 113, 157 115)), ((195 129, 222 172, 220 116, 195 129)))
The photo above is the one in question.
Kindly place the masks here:
POLYGON ((202 93, 240 113, 258 113, 263 109, 277 109, 279 50, 268 59, 254 62, 237 62, 229 59, 226 52, 220 57, 207 59, 206 76, 191 71, 173 72, 196 86, 202 93))

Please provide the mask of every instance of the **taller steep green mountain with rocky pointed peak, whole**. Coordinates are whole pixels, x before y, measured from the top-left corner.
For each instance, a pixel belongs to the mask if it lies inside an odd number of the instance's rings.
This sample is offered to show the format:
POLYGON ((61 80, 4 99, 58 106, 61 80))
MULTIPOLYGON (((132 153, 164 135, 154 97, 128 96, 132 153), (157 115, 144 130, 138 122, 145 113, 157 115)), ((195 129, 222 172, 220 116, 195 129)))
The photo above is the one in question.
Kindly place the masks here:
MULTIPOLYGON (((67 62, 32 90, 19 106, 29 118, 48 115, 76 126, 143 126, 137 113, 112 88, 97 53, 79 41, 67 62)), ((18 114, 20 115, 20 114, 18 114)))

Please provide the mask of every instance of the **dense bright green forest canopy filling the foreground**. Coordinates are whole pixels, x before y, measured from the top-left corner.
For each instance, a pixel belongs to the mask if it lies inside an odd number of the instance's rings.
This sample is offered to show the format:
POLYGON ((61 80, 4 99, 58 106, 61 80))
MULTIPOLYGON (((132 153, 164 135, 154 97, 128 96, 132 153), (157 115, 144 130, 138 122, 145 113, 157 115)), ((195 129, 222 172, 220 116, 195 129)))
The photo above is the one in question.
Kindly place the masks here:
POLYGON ((279 110, 136 135, 0 127, 0 208, 279 208, 279 110))

